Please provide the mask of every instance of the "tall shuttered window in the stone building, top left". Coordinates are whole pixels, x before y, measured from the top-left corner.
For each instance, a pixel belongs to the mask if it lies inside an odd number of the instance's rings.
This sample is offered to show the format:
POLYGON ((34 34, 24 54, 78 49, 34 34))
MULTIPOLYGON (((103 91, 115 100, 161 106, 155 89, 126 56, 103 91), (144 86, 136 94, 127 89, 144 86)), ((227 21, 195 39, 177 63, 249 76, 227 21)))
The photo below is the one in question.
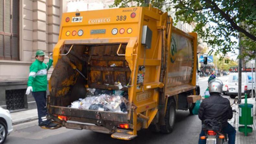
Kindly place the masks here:
POLYGON ((19 0, 0 0, 0 60, 19 60, 19 0))

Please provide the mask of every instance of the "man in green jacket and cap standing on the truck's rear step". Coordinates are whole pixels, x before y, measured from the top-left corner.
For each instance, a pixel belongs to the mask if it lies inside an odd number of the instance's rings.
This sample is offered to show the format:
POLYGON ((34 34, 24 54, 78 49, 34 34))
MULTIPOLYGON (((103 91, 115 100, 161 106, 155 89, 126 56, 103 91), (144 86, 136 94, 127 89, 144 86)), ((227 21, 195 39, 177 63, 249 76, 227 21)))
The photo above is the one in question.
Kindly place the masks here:
POLYGON ((29 68, 26 94, 28 95, 31 91, 35 98, 38 112, 38 125, 42 128, 53 129, 59 125, 50 122, 46 117, 48 115, 46 109, 47 73, 53 62, 52 53, 50 54, 50 59, 47 64, 43 63, 44 56, 45 54, 42 50, 36 52, 36 60, 29 68))

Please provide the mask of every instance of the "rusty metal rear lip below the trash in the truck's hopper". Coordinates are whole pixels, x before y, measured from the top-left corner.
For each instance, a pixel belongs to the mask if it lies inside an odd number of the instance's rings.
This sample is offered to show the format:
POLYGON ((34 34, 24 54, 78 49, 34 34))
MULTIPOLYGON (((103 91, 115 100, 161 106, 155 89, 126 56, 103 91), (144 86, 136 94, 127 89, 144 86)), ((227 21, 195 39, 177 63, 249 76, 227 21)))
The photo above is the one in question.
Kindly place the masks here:
POLYGON ((107 121, 114 121, 114 122, 128 121, 127 114, 124 114, 124 113, 83 110, 83 109, 53 106, 53 105, 49 106, 49 112, 55 115, 74 116, 74 117, 107 120, 107 121))

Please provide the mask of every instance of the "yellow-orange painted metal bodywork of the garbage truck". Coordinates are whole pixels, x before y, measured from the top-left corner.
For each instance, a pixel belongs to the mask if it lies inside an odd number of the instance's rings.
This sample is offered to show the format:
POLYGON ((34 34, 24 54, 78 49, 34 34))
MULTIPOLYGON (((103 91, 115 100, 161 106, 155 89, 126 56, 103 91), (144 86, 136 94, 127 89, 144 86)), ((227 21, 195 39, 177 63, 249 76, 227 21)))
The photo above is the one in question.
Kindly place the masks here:
MULTIPOLYGON (((150 7, 128 7, 117 9, 105 9, 96 11, 79 12, 80 16, 76 16, 75 12, 63 13, 61 19, 59 42, 53 50, 53 65, 56 66, 58 59, 61 58, 61 48, 63 45, 94 45, 94 44, 119 44, 117 55, 124 56, 131 71, 130 83, 128 87, 128 121, 132 120, 133 131, 131 135, 137 135, 137 130, 142 127, 147 128, 158 112, 159 92, 158 88, 164 88, 164 95, 173 96, 184 92, 184 90, 193 89, 195 86, 195 69, 196 62, 194 62, 194 73, 192 81, 186 83, 187 85, 181 86, 180 89, 172 89, 168 84, 168 79, 163 83, 159 82, 161 72, 161 49, 162 45, 166 45, 169 49, 171 46, 172 33, 178 34, 186 39, 192 39, 194 42, 194 61, 196 61, 196 33, 185 33, 172 26, 173 20, 171 18, 171 27, 167 29, 167 13, 161 10, 150 7), (131 14, 136 13, 136 17, 132 18, 131 14), (122 16, 122 20, 121 20, 122 16), (65 19, 69 17, 70 21, 66 22, 65 19), (80 22, 72 22, 73 17, 82 17, 80 22), (124 18, 126 17, 126 18, 124 18), (125 20, 124 20, 125 19, 125 20), (152 31, 151 48, 145 49, 140 43, 142 37, 142 27, 147 25, 152 31), (113 35, 112 30, 117 28, 117 34, 113 35), (119 30, 125 29, 121 34, 119 30), (83 35, 75 36, 66 35, 67 31, 83 30, 83 35), (100 30, 102 33, 92 33, 93 31, 100 30), (165 37, 166 31, 169 30, 168 37, 165 37), (162 44, 162 39, 166 44, 162 44), (119 50, 121 45, 127 44, 125 54, 120 55, 119 50), (139 67, 144 65, 145 71, 139 71, 139 67), (144 83, 137 84, 138 74, 144 74, 144 83), (168 87, 169 86, 169 87, 168 87), (137 121, 137 114, 141 113, 147 117, 146 123, 137 121)), ((168 76, 168 68, 171 67, 168 57, 167 70, 165 70, 165 77, 168 76)), ((75 66, 71 64, 74 68, 75 66)), ((78 66, 77 66, 78 67, 78 66)), ((172 67, 173 69, 173 67, 172 67)), ((82 67, 79 68, 82 70, 82 67)), ((70 83, 67 81, 67 83, 70 83)), ((86 85, 89 87, 89 85, 86 85)), ((49 82, 49 88, 50 82, 49 82)), ((66 90, 61 91, 65 92, 66 90)), ((167 108, 168 97, 165 98, 165 109, 167 108)), ((127 134, 127 133, 126 133, 127 134)), ((122 139, 120 135, 113 135, 122 139)), ((129 136, 128 136, 129 137, 129 136)), ((123 138, 123 139, 127 139, 123 138)))

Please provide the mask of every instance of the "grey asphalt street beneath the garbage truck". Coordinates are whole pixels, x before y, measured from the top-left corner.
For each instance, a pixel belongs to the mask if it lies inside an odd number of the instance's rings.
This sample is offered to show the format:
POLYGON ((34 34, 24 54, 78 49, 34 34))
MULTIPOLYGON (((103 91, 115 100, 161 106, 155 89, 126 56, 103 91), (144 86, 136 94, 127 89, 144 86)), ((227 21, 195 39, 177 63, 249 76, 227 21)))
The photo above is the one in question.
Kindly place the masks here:
MULTIPOLYGON (((201 95, 207 88, 207 80, 208 78, 199 80, 201 95)), ((228 98, 228 96, 224 97, 228 98)), ((6 144, 191 144, 198 142, 200 130, 201 121, 197 115, 191 116, 189 111, 178 110, 171 134, 153 133, 149 129, 142 129, 138 132, 137 138, 123 141, 90 130, 73 130, 64 127, 55 130, 41 129, 37 121, 31 121, 14 126, 14 131, 7 137, 6 144)))

